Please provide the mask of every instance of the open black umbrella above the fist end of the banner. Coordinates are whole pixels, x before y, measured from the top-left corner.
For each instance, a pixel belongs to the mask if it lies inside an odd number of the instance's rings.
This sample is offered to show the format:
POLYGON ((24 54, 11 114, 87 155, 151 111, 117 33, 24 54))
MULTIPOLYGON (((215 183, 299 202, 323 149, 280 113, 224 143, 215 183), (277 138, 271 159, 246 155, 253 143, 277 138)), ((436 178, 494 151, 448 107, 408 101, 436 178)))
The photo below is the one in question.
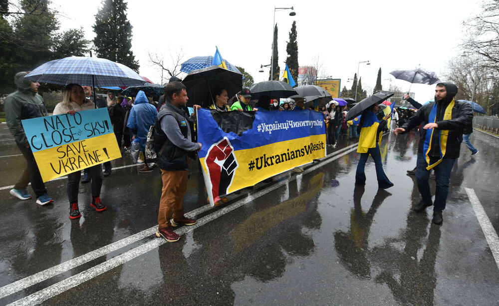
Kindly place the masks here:
MULTIPOLYGON (((219 66, 192 70, 182 81, 187 87, 188 106, 194 104, 201 107, 210 107, 213 100, 213 91, 216 88, 227 90, 229 97, 241 91, 243 87, 243 75, 232 70, 227 70, 219 66)), ((251 96, 253 96, 251 92, 251 96)))

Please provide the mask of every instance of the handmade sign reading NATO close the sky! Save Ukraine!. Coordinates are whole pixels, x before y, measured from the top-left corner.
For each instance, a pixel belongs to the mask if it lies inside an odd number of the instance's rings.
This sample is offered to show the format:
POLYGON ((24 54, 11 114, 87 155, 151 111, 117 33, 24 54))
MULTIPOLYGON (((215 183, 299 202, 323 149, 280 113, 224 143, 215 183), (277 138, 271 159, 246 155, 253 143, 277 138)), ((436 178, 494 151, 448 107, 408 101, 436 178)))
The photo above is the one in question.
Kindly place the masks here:
POLYGON ((22 120, 44 182, 121 157, 106 108, 22 120))

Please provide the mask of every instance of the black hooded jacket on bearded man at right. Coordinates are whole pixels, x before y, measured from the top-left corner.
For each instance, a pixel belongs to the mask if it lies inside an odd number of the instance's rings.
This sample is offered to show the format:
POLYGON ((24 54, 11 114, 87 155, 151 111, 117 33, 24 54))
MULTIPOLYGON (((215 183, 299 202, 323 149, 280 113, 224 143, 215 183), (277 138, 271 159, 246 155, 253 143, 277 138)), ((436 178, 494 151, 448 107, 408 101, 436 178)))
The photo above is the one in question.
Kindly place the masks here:
MULTIPOLYGON (((458 87, 452 83, 442 83, 446 90, 447 95, 442 100, 437 100, 435 102, 429 102, 423 105, 418 111, 409 118, 402 126, 405 129, 404 133, 409 132, 414 127, 419 124, 425 124, 429 121, 429 116, 432 111, 433 105, 437 103, 437 117, 436 123, 438 128, 435 129, 436 132, 440 130, 449 130, 449 135, 447 137, 447 149, 444 158, 458 158, 461 142, 463 141, 463 129, 469 125, 473 120, 473 110, 471 105, 467 102, 454 101, 454 107, 452 108, 452 118, 449 120, 443 120, 445 109, 451 103, 454 96, 458 93, 458 87)), ((426 139, 426 130, 420 129, 420 140, 418 153, 423 152, 423 145, 426 139)), ((440 144, 438 143, 438 137, 432 140, 430 156, 439 157, 440 144)))

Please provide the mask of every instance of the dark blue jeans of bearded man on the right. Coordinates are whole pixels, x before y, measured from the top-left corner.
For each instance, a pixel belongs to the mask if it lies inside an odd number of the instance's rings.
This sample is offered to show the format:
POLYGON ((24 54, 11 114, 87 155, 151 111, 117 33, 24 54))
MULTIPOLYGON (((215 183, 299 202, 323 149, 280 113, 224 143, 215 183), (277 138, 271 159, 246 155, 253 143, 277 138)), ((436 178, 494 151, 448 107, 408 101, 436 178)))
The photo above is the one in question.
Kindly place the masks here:
MULTIPOLYGON (((430 157, 430 163, 438 161, 438 157, 430 157)), ((455 158, 444 158, 440 164, 433 167, 435 170, 435 202, 433 202, 434 211, 443 211, 445 209, 445 203, 447 201, 447 195, 449 194, 449 179, 451 177, 451 170, 456 162, 455 158)), ((426 170, 428 163, 423 153, 418 153, 418 163, 416 169, 416 182, 418 184, 419 193, 421 198, 425 203, 432 203, 432 193, 430 191, 430 184, 428 183, 428 177, 430 176, 430 170, 426 170)))

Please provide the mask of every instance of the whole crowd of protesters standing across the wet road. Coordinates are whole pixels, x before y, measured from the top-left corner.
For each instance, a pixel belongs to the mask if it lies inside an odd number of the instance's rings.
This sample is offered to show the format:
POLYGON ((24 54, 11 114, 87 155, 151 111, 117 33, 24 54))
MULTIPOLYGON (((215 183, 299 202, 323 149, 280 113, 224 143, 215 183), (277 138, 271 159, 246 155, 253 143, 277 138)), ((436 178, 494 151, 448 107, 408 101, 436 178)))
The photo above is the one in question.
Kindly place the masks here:
MULTIPOLYGON (((38 167, 33 157, 33 153, 29 148, 29 143, 24 134, 21 120, 42 117, 47 115, 47 110, 43 104, 41 96, 37 94, 39 84, 32 82, 24 76, 27 72, 19 72, 14 77, 14 82, 18 90, 8 95, 5 101, 5 113, 7 124, 11 134, 15 138, 15 142, 24 156, 27 167, 22 172, 18 182, 14 188, 10 190, 10 194, 26 200, 31 198, 26 187, 31 183, 32 189, 36 195, 36 203, 45 205, 53 200, 48 196, 47 190, 41 179, 38 167)), ((159 228, 156 233, 158 237, 163 237, 169 242, 174 242, 179 239, 172 227, 178 225, 194 225, 196 220, 189 219, 184 216, 182 206, 182 198, 187 189, 188 178, 188 163, 187 157, 192 152, 199 151, 202 147, 201 143, 194 141, 194 121, 196 112, 189 114, 187 109, 187 90, 184 84, 178 78, 172 78, 165 87, 165 94, 158 97, 147 97, 143 91, 138 91, 133 97, 125 97, 123 95, 116 96, 114 91, 108 91, 107 95, 92 94, 92 89, 88 86, 80 86, 79 84, 68 84, 63 93, 63 100, 56 105, 53 114, 69 113, 74 115, 75 112, 93 109, 95 107, 107 108, 113 130, 116 136, 118 145, 124 146, 124 149, 129 149, 136 144, 142 153, 141 160, 144 166, 138 169, 139 172, 150 172, 154 164, 149 163, 146 152, 146 139, 151 126, 155 126, 155 139, 163 139, 163 146, 157 148, 158 158, 156 164, 161 170, 163 182, 162 195, 158 213, 159 228), (156 124, 155 124, 156 123, 156 124), (173 221, 170 222, 170 216, 173 214, 173 221)), ((436 107, 436 102, 428 104, 429 106, 421 107, 421 110, 415 112, 408 109, 395 109, 392 113, 384 115, 377 105, 365 110, 362 113, 360 123, 353 124, 352 121, 347 121, 348 112, 347 106, 340 106, 336 102, 330 102, 322 105, 321 99, 315 102, 315 110, 319 110, 324 116, 326 126, 327 144, 335 147, 339 138, 357 139, 359 138, 358 151, 361 154, 356 172, 356 185, 364 185, 366 177, 364 174, 364 166, 369 157, 375 161, 376 173, 379 188, 389 188, 393 183, 387 178, 383 171, 378 142, 381 137, 381 131, 394 129, 395 133, 405 133, 412 128, 415 128, 422 122, 427 123, 420 128, 421 141, 420 150, 418 151, 417 163, 417 182, 422 195, 422 201, 416 207, 416 211, 423 211, 427 206, 433 205, 431 200, 431 192, 428 185, 428 177, 430 167, 435 167, 437 175, 437 188, 435 198, 435 214, 434 222, 442 223, 442 210, 445 208, 445 200, 447 197, 447 189, 449 186, 449 174, 452 165, 459 156, 459 145, 461 143, 463 129, 465 126, 470 126, 472 113, 469 107, 456 102, 459 107, 457 117, 443 117, 442 108, 448 107, 450 101, 454 103, 453 97, 457 92, 457 87, 450 83, 440 83, 440 87, 447 88, 447 96, 437 91, 436 99, 442 100, 442 103, 447 103, 444 106, 438 104, 439 115, 434 118, 434 123, 431 123, 434 116, 430 107, 436 107), (441 98, 440 98, 441 97, 441 98), (392 126, 387 125, 387 120, 392 116, 392 126), (449 123, 450 122, 450 123, 449 123), (450 130, 449 140, 447 140, 448 155, 442 161, 435 147, 441 147, 440 143, 432 142, 433 150, 429 150, 431 154, 423 154, 423 144, 428 136, 427 129, 431 127, 444 126, 450 130), (438 158, 440 160, 438 160, 438 158)), ((241 92, 229 102, 231 97, 224 88, 215 88, 213 90, 214 103, 210 109, 217 111, 267 111, 267 110, 303 110, 305 106, 303 99, 271 99, 268 96, 260 96, 256 103, 251 103, 251 92, 248 87, 243 87, 241 92), (254 104, 254 106, 252 106, 254 104)), ((417 103, 417 102, 416 102, 417 103)), ((308 105, 308 103, 307 103, 308 105)), ((453 104, 454 105, 454 104, 453 104)), ((200 108, 199 105, 194 105, 194 108, 200 108)), ((313 109, 312 107, 308 109, 313 109)), ((448 115, 446 115, 448 116, 448 115)), ((469 128, 466 130, 469 137, 469 128)), ((442 144, 442 147, 445 147, 442 144)), ((426 148, 425 148, 426 149, 426 148)), ((473 154, 478 152, 475 148, 470 148, 473 154)), ((444 153, 445 154, 445 153, 444 153)), ((103 176, 111 174, 111 163, 106 162, 102 166, 96 165, 84 170, 82 183, 91 181, 91 196, 92 202, 90 206, 98 212, 106 210, 106 206, 100 199, 100 191, 102 187, 103 176)), ((302 170, 303 171, 303 170, 302 170)), ((81 216, 78 206, 78 190, 80 182, 80 171, 70 173, 67 178, 67 197, 69 202, 69 218, 77 219, 81 216)), ((222 200, 226 200, 223 198, 222 200)), ((224 201, 225 202, 225 201, 224 201)), ((217 203, 220 205, 220 203, 217 203)), ((216 204, 216 206, 218 206, 216 204)))

